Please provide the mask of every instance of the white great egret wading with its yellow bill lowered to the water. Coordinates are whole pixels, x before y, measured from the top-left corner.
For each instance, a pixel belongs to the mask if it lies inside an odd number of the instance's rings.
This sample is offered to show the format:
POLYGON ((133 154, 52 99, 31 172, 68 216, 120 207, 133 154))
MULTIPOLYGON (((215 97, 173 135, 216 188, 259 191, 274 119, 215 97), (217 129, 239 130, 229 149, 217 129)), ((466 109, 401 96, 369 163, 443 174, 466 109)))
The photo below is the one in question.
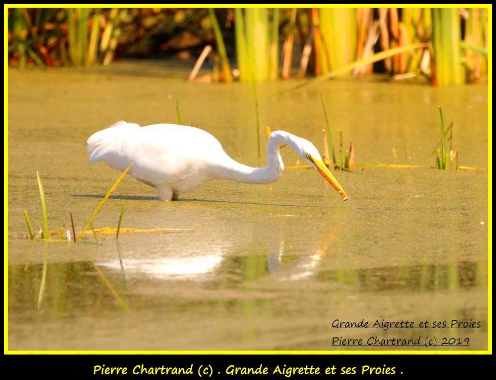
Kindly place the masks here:
POLYGON ((305 139, 285 131, 272 132, 267 144, 267 166, 243 165, 231 159, 211 134, 194 127, 176 124, 138 124, 118 121, 94 133, 87 141, 90 163, 105 161, 134 178, 154 186, 161 200, 177 200, 211 179, 229 179, 265 184, 277 180, 284 169, 279 148, 289 145, 341 194, 348 195, 322 163, 317 149, 305 139))

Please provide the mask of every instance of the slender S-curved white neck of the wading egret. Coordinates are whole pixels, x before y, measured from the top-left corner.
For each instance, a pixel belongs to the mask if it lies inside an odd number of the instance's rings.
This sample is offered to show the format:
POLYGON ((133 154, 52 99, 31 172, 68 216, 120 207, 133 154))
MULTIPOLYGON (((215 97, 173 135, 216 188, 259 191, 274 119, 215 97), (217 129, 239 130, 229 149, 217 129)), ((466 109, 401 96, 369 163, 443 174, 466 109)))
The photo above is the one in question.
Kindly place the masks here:
MULTIPOLYGON (((279 148, 287 144, 297 153, 294 139, 299 137, 285 131, 272 132, 267 144, 267 165, 265 167, 250 167, 231 160, 228 165, 215 169, 216 178, 224 178, 237 182, 264 184, 271 183, 279 179, 284 170, 279 148)), ((299 153, 300 154, 300 153, 299 153)))

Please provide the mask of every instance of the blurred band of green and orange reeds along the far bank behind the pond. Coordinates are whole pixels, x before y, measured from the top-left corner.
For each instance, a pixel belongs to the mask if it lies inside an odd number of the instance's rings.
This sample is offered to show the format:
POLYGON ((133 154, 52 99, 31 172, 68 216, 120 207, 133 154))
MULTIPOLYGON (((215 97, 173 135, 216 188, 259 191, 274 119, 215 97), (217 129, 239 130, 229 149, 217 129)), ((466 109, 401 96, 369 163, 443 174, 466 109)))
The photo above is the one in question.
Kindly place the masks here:
POLYGON ((91 66, 121 58, 196 61, 189 80, 488 72, 488 8, 7 8, 8 63, 91 66), (204 60, 212 74, 198 78, 204 60))

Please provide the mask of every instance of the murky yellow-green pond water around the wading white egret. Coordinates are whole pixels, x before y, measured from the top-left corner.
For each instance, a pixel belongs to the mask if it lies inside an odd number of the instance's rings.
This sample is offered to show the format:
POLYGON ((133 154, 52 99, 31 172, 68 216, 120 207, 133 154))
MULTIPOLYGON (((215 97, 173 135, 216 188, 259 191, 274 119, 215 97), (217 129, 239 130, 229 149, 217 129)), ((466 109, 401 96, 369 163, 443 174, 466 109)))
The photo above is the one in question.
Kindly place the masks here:
MULTIPOLYGON (((211 181, 168 203, 127 176, 95 227, 116 227, 126 202, 122 227, 191 231, 122 233, 118 241, 99 235, 98 244, 92 234, 87 244, 26 239, 23 210, 34 229, 42 224, 36 170, 49 228, 67 227, 72 212, 80 230, 119 176, 87 163, 86 139, 120 119, 175 123, 176 100, 186 125, 212 133, 242 163, 265 164, 263 154, 256 157, 251 84, 186 85, 166 75, 141 62, 9 70, 9 350, 488 348, 486 171, 335 171, 355 207, 310 169, 286 169, 269 185, 211 181), (369 328, 335 328, 360 321, 369 328), (372 328, 376 321, 477 328, 372 328), (431 336, 447 344, 415 343, 431 336), (392 339, 414 343, 383 344, 392 339)), ((460 164, 488 167, 486 85, 340 79, 269 95, 285 86, 257 84, 261 125, 304 137, 321 152, 320 94, 334 141, 343 129, 358 163, 434 166, 440 105, 445 123, 454 122, 460 164)), ((287 166, 301 164, 289 148, 282 155, 287 166)))

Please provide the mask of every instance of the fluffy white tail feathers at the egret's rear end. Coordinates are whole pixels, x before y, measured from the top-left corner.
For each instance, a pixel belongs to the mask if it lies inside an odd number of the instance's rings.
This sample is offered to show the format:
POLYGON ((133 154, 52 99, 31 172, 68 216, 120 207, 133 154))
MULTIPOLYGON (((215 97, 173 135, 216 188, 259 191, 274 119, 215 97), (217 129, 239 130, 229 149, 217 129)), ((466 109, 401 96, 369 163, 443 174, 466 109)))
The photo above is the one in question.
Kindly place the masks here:
POLYGON ((106 129, 93 133, 87 141, 88 146, 86 150, 91 153, 88 162, 94 163, 104 160, 109 145, 116 140, 124 138, 126 134, 136 130, 136 128, 140 128, 140 126, 135 123, 118 121, 106 129))

